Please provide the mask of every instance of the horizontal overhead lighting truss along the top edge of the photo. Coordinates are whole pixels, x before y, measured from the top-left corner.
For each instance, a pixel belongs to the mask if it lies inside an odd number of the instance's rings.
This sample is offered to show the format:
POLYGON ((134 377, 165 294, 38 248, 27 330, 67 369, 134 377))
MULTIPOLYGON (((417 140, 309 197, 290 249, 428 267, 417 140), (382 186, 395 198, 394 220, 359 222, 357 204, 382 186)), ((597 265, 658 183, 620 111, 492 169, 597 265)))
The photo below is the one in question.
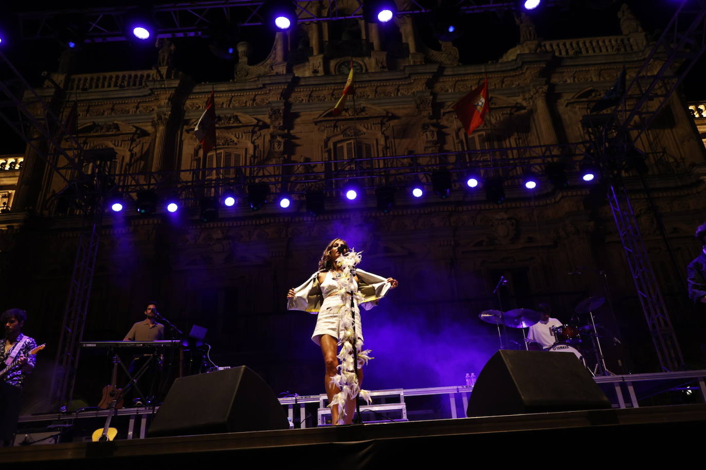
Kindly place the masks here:
MULTIPOLYGON (((568 0, 549 0, 549 4, 567 3, 568 0)), ((292 2, 297 6, 300 22, 344 20, 363 17, 363 1, 352 12, 340 11, 335 0, 306 0, 292 2), (318 8, 323 4, 324 8, 318 8), (325 15, 322 12, 326 12, 325 15)), ((397 11, 397 15, 428 14, 434 2, 410 0, 397 11)), ((213 0, 179 2, 155 5, 150 8, 157 25, 156 37, 191 37, 206 33, 211 25, 258 26, 265 24, 263 0, 213 0)), ((462 13, 507 11, 517 9, 516 1, 460 0, 462 13)), ((86 34, 85 42, 126 41, 124 24, 126 16, 144 11, 136 6, 86 8, 81 10, 40 11, 20 13, 23 39, 48 39, 64 34, 61 25, 53 21, 57 16, 81 18, 86 34)))

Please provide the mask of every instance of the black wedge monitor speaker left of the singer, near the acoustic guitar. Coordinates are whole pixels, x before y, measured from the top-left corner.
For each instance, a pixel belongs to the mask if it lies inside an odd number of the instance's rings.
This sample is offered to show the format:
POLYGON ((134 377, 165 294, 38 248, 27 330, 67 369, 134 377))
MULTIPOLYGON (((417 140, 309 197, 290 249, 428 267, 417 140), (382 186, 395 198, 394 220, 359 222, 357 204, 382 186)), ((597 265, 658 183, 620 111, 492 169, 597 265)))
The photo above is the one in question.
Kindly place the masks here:
POLYGON ((148 437, 289 429, 275 393, 246 366, 177 378, 148 437))

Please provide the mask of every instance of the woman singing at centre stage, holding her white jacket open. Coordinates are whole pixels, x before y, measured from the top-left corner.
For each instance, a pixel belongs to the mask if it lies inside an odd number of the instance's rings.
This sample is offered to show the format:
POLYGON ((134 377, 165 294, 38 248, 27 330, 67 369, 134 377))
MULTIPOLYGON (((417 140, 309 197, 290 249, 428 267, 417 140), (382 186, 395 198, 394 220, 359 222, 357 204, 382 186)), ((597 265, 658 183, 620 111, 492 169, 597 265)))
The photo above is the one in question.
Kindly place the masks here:
POLYGON ((324 384, 334 425, 352 423, 357 395, 369 401, 368 392, 360 389, 361 366, 370 358, 369 351, 362 350, 359 307, 371 309, 389 289, 397 287, 393 278, 381 278, 356 268, 360 259, 359 253, 336 238, 323 250, 318 271, 306 283, 287 293, 287 309, 318 313, 311 340, 321 346, 326 369, 324 384), (351 297, 355 321, 352 320, 351 297), (341 352, 337 354, 339 345, 341 352), (358 352, 357 375, 353 372, 353 345, 358 352), (341 359, 340 365, 338 359, 341 359))

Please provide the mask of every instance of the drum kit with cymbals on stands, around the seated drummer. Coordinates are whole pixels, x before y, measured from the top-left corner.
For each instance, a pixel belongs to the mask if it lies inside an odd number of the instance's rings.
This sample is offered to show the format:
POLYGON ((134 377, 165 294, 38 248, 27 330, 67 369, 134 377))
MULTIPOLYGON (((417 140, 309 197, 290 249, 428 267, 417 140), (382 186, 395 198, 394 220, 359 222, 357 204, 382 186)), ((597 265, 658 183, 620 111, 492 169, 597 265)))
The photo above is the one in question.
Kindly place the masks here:
MULTIPOLYGON (((593 312, 601 307, 605 302, 604 297, 588 297, 582 300, 575 307, 574 311, 580 316, 587 316, 585 325, 578 325, 580 321, 572 322, 566 325, 553 326, 551 331, 554 334, 555 342, 550 347, 543 348, 538 342, 532 342, 525 337, 524 328, 539 323, 542 319, 542 313, 532 309, 513 309, 508 311, 501 310, 484 310, 478 314, 478 318, 491 325, 498 327, 498 337, 501 341, 501 349, 503 349, 503 341, 501 335, 501 327, 520 328, 524 339, 524 347, 517 349, 525 349, 528 351, 545 351, 545 352, 570 352, 584 364, 594 375, 610 374, 606 369, 603 350, 601 347, 600 338, 602 335, 599 329, 602 327, 595 322, 593 312), (593 353, 595 355, 595 366, 590 369, 584 359, 584 354, 593 353)), ((515 343, 517 345, 517 343, 515 343)))

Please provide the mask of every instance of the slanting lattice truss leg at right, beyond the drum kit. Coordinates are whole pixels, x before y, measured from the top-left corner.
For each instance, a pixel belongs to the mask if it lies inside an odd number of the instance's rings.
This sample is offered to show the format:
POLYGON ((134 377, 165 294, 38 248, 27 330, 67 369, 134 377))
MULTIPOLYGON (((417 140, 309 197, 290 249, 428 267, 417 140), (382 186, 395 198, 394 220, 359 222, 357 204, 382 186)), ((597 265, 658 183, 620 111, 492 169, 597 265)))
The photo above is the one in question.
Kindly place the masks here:
POLYGON ((624 187, 616 190, 616 187, 611 185, 608 190, 608 202, 626 252, 640 306, 652 334, 659 364, 664 371, 676 371, 683 366, 684 358, 669 319, 669 311, 659 290, 645 242, 642 241, 638 219, 630 204, 627 190, 624 187))

